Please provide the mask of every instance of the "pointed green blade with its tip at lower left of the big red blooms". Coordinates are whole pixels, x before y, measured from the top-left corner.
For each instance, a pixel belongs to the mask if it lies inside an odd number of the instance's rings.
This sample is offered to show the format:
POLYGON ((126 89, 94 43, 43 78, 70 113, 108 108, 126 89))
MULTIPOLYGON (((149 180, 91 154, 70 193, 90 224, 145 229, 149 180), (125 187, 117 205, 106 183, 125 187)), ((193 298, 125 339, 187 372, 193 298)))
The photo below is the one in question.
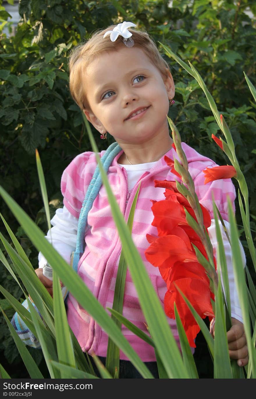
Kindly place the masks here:
POLYGON ((199 378, 198 372, 196 369, 196 363, 194 361, 194 357, 192 355, 192 351, 191 351, 190 345, 188 343, 188 338, 187 338, 184 328, 182 326, 182 322, 180 320, 180 315, 178 314, 176 304, 174 304, 174 313, 175 313, 175 320, 176 320, 177 329, 178 329, 178 336, 180 338, 180 348, 181 348, 181 352, 182 352, 184 365, 185 365, 186 369, 188 370, 190 378, 199 378))

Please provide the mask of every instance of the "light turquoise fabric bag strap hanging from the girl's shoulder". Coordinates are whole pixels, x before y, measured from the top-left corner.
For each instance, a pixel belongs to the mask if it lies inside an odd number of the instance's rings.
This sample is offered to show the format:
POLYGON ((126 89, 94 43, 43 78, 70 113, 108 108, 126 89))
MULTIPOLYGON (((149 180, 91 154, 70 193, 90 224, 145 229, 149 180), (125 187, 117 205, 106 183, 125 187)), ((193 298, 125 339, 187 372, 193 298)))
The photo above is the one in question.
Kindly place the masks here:
MULTIPOLYGON (((112 164, 113 159, 121 151, 121 147, 115 142, 112 143, 109 148, 107 148, 105 154, 101 158, 101 162, 103 164, 103 168, 105 172, 109 170, 109 166, 112 164)), ((99 165, 95 169, 87 192, 85 194, 85 198, 83 200, 83 205, 81 207, 80 216, 78 219, 78 233, 76 239, 76 251, 73 253, 72 267, 75 271, 78 270, 78 262, 84 252, 84 235, 85 235, 85 227, 87 224, 88 212, 90 211, 93 201, 99 194, 99 189, 101 188, 102 180, 101 174, 99 171, 99 165)))

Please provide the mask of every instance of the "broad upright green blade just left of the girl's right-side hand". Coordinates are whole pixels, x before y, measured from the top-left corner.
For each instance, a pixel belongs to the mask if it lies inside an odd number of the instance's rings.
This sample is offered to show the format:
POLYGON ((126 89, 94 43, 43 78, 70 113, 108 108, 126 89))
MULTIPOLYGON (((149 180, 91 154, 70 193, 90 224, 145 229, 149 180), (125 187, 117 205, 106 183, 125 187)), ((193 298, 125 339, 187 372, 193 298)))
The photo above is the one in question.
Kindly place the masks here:
POLYGON ((214 330, 214 378, 232 378, 227 343, 227 331, 223 306, 222 286, 219 279, 217 293, 215 293, 215 330, 214 330))

